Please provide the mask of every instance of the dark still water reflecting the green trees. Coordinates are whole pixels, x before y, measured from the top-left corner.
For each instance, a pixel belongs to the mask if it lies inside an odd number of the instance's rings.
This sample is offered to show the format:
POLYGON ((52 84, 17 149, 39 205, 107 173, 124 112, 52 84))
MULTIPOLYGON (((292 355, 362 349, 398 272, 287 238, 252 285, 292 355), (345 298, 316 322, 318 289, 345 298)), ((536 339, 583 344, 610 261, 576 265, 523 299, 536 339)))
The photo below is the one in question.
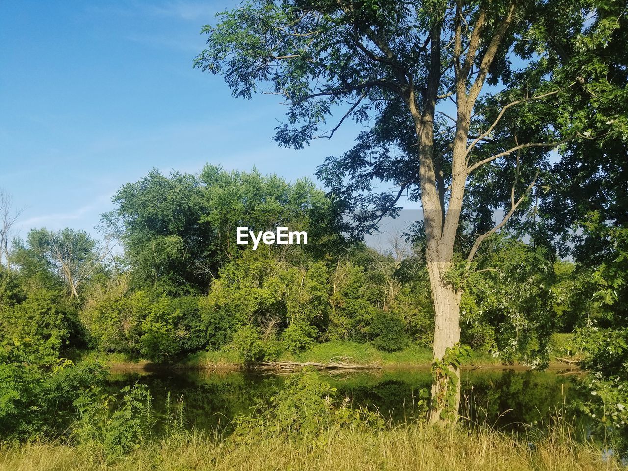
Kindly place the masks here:
MULTIPOLYGON (((392 423, 418 418, 419 393, 431 384, 426 369, 320 374, 353 406, 377 409, 392 423)), ((285 379, 241 371, 163 371, 115 373, 108 382, 112 390, 136 382, 145 384, 156 409, 164 407, 168 392, 173 398, 182 396, 187 420, 198 430, 210 430, 234 414, 249 411, 256 401, 271 398, 285 379)), ((553 371, 462 371, 461 382, 462 416, 475 423, 514 430, 549 423, 578 394, 568 377, 553 371)))

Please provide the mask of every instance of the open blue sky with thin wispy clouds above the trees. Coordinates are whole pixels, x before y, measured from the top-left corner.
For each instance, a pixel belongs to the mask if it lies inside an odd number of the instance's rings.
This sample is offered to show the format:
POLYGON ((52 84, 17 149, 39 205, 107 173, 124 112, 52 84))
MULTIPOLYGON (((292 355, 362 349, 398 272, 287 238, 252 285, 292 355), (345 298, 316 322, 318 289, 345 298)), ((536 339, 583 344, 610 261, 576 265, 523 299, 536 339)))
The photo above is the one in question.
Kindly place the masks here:
POLYGON ((356 129, 281 149, 276 97, 234 99, 192 68, 199 31, 230 1, 0 1, 0 187, 18 229, 94 232, 111 197, 153 168, 312 175, 356 129))

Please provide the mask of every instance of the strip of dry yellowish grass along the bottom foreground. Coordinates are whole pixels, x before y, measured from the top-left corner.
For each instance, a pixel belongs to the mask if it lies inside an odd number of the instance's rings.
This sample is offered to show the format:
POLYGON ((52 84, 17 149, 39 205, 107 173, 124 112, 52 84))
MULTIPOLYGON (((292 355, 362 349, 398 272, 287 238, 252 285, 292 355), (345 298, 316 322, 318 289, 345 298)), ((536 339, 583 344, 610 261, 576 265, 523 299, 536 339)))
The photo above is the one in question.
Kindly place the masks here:
POLYGON ((430 426, 400 426, 376 433, 323 431, 315 441, 273 436, 236 443, 190 433, 147 443, 107 460, 90 448, 30 443, 0 450, 3 471, 202 470, 421 470, 615 471, 595 447, 554 433, 529 443, 490 430, 470 433, 430 426))

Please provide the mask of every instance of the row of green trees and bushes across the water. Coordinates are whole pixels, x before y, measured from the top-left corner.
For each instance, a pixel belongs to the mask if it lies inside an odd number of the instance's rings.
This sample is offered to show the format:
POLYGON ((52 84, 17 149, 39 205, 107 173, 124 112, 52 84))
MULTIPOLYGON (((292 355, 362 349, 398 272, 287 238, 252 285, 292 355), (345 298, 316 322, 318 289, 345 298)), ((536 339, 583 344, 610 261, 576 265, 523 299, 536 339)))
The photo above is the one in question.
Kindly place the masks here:
MULTIPOLYGON (((392 234, 383 253, 345 237, 335 203, 310 180, 153 170, 127 183, 102 217, 106 242, 80 230, 32 229, 1 279, 1 335, 175 361, 231 345, 273 359, 315 342, 378 349, 431 345, 434 321, 421 234, 392 234), (306 230, 308 245, 236 244, 236 228, 306 230), (117 246, 116 246, 117 244, 117 246), (123 250, 121 250, 121 248, 123 250)), ((462 340, 504 360, 546 359, 571 332, 575 266, 494 236, 465 283, 462 340)), ((460 278, 460 279, 458 279, 460 278)))

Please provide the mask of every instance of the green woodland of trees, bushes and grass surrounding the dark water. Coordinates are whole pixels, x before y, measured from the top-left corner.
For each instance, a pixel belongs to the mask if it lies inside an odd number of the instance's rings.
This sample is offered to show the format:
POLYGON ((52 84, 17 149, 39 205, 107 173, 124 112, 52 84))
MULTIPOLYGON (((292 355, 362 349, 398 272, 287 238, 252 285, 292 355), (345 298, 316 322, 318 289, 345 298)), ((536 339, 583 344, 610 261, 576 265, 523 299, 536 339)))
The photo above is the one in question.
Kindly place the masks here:
POLYGON ((21 203, 0 189, 0 468, 625 467, 626 13, 613 0, 220 13, 195 68, 236 98, 278 95, 279 146, 364 130, 293 181, 153 168, 93 231, 16 236, 21 203), (252 250, 242 227, 307 243, 252 250), (426 382, 412 418, 393 420, 333 374, 251 379, 282 362, 425 367, 426 382), (114 387, 133 365, 236 370, 251 398, 207 409, 224 420, 202 429, 186 393, 141 376, 114 387), (542 423, 499 428, 497 404, 482 422, 463 386, 467 369, 548 368, 570 392, 542 423))

